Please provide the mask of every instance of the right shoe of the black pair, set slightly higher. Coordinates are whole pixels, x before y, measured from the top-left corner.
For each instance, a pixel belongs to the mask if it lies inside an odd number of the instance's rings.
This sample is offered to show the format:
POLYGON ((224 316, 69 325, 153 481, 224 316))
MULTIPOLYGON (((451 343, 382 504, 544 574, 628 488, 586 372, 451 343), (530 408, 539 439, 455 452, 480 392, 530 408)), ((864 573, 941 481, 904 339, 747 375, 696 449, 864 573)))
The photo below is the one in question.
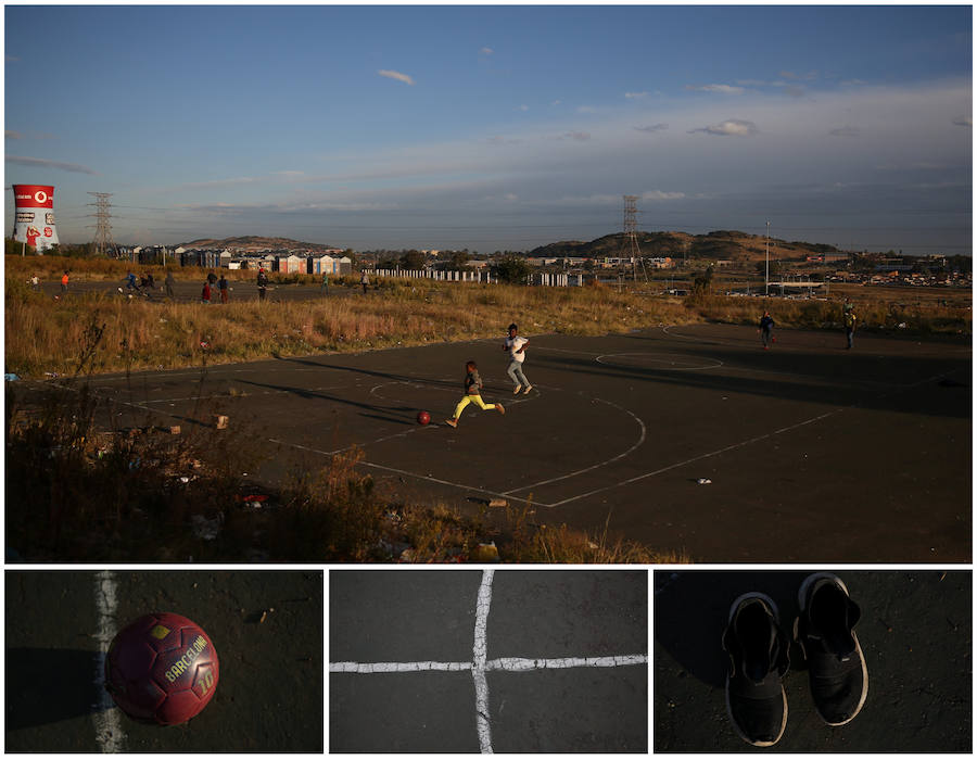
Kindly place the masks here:
POLYGON ((809 575, 798 592, 800 617, 794 637, 808 660, 811 696, 828 725, 852 720, 868 695, 868 669, 855 636, 861 617, 841 580, 829 572, 809 575))

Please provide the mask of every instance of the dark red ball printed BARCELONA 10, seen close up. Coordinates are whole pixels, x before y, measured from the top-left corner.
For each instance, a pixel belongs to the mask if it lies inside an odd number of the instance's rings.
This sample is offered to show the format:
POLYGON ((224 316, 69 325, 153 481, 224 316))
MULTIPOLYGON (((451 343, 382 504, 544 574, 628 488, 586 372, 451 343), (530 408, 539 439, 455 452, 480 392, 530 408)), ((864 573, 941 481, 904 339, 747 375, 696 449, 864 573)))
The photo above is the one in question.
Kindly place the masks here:
POLYGON ((129 718, 176 725, 203 710, 220 667, 210 636, 173 612, 144 615, 115 634, 105 657, 105 688, 129 718))

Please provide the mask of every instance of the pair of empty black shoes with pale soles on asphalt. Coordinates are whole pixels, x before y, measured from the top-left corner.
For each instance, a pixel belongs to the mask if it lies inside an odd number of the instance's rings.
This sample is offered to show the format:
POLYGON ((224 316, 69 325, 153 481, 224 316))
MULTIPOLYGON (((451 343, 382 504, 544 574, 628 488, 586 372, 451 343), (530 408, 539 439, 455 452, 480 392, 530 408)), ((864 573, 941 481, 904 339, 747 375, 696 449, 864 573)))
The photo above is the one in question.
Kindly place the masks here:
MULTIPOLYGON (((868 694, 865 657, 852 630, 861 610, 829 572, 809 575, 798 599, 794 638, 808 661, 814 708, 828 725, 845 725, 868 694)), ((736 732, 756 747, 775 745, 787 727, 782 679, 790 667, 789 648, 773 599, 751 592, 733 603, 723 634, 729 656, 726 709, 736 732)))

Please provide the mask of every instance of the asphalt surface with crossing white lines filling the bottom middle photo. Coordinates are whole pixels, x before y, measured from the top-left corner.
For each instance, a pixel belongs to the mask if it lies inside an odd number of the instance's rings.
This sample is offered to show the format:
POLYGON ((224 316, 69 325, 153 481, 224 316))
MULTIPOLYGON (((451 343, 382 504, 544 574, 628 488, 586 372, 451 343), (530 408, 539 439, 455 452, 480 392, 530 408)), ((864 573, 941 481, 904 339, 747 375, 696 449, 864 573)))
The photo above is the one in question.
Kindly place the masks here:
POLYGON ((644 752, 646 571, 331 570, 331 752, 644 752))

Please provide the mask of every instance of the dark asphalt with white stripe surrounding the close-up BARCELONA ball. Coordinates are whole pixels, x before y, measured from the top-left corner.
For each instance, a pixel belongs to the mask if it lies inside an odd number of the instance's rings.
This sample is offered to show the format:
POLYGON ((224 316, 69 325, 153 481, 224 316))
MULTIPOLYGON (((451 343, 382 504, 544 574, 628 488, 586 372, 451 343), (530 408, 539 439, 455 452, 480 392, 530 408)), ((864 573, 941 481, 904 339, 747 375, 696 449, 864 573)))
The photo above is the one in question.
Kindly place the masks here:
POLYGON ((5 606, 8 753, 322 751, 320 571, 8 570, 5 606), (214 698, 176 726, 102 688, 101 653, 153 611, 201 625, 220 659, 214 698))

